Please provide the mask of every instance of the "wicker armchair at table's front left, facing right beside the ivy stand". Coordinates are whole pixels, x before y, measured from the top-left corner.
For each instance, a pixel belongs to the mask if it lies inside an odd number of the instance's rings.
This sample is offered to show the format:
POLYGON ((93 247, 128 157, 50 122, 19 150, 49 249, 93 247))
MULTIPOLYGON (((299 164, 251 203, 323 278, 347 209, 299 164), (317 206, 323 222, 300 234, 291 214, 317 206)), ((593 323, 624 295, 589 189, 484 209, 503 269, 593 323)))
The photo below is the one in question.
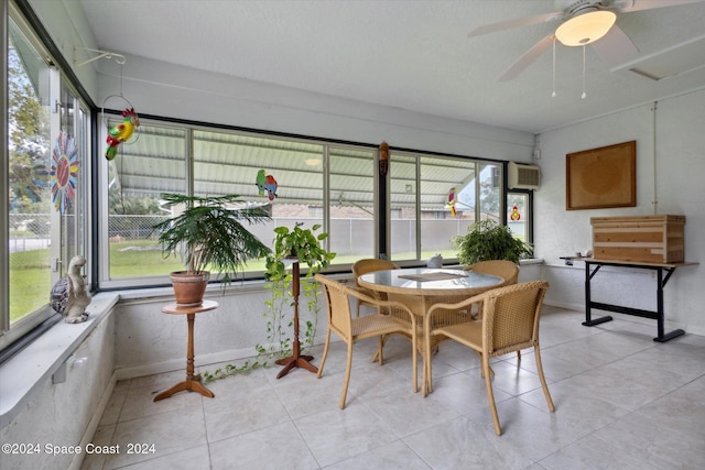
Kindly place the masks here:
POLYGON ((413 391, 419 391, 417 378, 417 348, 416 348, 416 318, 414 314, 404 305, 379 300, 369 297, 357 289, 350 288, 337 281, 332 280, 323 274, 316 274, 316 281, 324 287, 328 306, 328 326, 326 328, 326 342, 323 349, 323 357, 318 365, 318 379, 323 375, 323 367, 328 356, 328 347, 330 346, 330 332, 335 332, 345 341, 348 347, 348 357, 345 369, 345 381, 343 383, 343 393, 340 395, 340 409, 345 408, 345 401, 348 393, 348 384, 350 383, 350 369, 352 367, 352 345, 361 339, 378 337, 379 338, 379 363, 383 364, 382 343, 383 338, 391 334, 402 334, 411 338, 412 343, 412 381, 413 391), (382 315, 380 313, 362 315, 361 317, 352 317, 350 309, 350 297, 357 300, 364 300, 378 309, 393 308, 395 313, 405 311, 405 321, 400 320, 397 316, 382 315))

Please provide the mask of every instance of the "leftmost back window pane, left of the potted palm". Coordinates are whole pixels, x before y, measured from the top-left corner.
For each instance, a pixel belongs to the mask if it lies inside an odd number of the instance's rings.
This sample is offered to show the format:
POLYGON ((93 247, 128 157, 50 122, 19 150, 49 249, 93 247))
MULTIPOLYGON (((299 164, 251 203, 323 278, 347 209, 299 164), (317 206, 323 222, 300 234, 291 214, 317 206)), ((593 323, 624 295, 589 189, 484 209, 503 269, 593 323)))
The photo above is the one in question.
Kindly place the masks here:
MULTIPOLYGON (((121 119, 102 122, 101 143, 108 129, 121 119)), ((137 277, 183 270, 178 258, 162 256, 152 226, 169 217, 159 204, 160 195, 186 192, 186 131, 142 122, 130 140, 118 146, 112 161, 99 160, 108 182, 107 210, 100 211, 107 214, 101 247, 108 260, 101 263, 101 285, 134 285, 137 277)))

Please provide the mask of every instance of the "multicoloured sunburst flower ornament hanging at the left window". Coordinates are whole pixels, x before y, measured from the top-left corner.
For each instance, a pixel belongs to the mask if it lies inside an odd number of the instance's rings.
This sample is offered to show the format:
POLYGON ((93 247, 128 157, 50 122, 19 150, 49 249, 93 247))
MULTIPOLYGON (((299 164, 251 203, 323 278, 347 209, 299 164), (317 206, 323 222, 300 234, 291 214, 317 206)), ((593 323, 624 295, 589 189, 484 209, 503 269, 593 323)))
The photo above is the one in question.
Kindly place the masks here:
POLYGON ((52 203, 56 210, 64 214, 76 196, 76 182, 78 179, 78 150, 76 141, 66 132, 59 132, 56 144, 52 150, 52 165, 50 172, 50 185, 52 189, 52 203))

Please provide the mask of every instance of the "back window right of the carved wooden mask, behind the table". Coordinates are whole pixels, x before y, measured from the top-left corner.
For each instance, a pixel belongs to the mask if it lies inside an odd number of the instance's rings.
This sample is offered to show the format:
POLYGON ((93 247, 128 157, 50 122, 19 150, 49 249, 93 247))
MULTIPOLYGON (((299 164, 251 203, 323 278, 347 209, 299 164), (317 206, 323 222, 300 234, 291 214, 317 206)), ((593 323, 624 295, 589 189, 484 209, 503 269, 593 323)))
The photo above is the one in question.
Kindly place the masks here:
POLYGON ((476 220, 500 221, 502 166, 469 159, 390 155, 390 253, 395 262, 456 258, 451 239, 476 220))

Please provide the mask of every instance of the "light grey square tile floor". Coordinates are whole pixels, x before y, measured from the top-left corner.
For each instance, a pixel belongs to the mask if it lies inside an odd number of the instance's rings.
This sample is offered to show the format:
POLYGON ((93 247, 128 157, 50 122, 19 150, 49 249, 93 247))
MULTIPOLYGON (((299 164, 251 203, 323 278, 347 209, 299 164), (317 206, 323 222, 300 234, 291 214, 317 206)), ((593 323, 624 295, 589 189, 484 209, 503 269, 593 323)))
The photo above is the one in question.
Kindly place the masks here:
POLYGON ((705 468, 705 337, 657 343, 654 321, 614 316, 587 328, 579 311, 544 307, 542 358, 556 411, 547 411, 533 353, 519 365, 507 354, 492 365, 501 437, 475 353, 442 345, 435 391, 423 398, 411 390, 409 342, 391 339, 380 367, 370 362, 372 339, 355 350, 345 411, 340 343, 321 380, 302 369, 280 380, 279 369, 258 370, 208 384, 215 398, 184 392, 153 403, 184 371, 119 382, 94 442, 121 453, 89 456, 83 468, 705 468), (150 447, 128 455, 128 444, 150 447))

